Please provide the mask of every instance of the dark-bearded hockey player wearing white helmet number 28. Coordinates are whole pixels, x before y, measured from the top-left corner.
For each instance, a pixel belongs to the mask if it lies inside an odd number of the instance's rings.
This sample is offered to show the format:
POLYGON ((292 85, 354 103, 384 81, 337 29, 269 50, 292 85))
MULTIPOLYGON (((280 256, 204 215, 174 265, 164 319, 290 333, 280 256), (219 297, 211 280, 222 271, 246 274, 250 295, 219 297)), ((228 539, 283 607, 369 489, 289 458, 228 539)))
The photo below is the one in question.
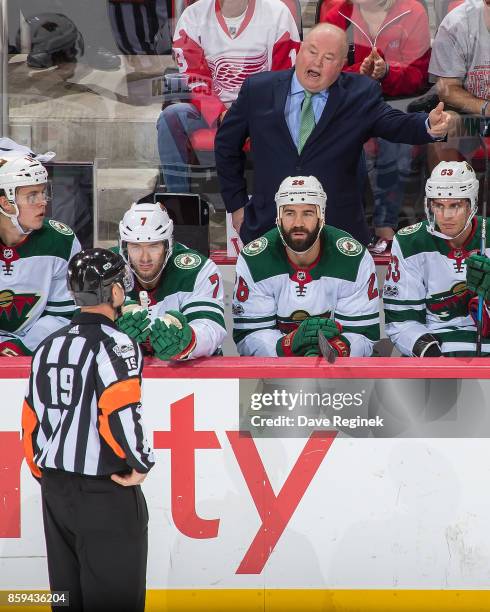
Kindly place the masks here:
POLYGON ((291 176, 276 193, 277 228, 237 261, 233 337, 241 355, 319 354, 319 331, 341 357, 369 356, 379 338, 371 255, 325 225, 327 196, 313 176, 291 176))

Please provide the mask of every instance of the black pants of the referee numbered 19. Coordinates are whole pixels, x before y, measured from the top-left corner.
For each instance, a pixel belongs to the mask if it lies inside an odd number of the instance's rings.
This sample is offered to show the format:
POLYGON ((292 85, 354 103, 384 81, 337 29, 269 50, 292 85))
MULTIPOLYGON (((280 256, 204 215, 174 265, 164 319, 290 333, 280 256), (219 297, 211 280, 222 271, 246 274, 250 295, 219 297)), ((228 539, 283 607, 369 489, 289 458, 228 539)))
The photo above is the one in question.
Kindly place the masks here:
POLYGON ((143 612, 148 510, 141 488, 44 470, 41 493, 51 590, 69 591, 69 610, 143 612))

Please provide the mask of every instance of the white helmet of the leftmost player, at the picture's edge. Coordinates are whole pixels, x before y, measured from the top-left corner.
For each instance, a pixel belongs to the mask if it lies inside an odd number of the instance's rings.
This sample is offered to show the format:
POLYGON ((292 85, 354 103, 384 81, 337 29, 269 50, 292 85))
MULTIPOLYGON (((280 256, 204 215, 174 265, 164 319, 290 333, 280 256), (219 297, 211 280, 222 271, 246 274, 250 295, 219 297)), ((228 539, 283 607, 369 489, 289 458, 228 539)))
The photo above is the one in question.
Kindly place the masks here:
MULTIPOLYGON (((18 187, 31 185, 46 185, 48 190, 48 173, 46 168, 34 157, 19 154, 17 151, 2 151, 0 153, 0 189, 3 189, 7 200, 14 207, 14 213, 9 214, 0 207, 0 213, 10 219, 12 225, 22 234, 27 235, 19 224, 19 206, 16 201, 18 187)), ((48 196, 49 199, 49 196, 48 196)))

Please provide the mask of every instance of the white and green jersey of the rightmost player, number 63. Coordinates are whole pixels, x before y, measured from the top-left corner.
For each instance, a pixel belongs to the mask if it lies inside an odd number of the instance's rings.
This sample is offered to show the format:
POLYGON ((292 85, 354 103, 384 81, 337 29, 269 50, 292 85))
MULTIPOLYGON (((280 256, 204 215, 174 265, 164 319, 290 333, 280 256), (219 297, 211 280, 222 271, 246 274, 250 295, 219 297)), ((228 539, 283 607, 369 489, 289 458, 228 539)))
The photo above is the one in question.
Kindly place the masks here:
MULTIPOLYGON (((439 340, 448 357, 474 355, 476 327, 468 314, 474 294, 466 286, 465 260, 479 252, 481 218, 473 220, 459 249, 429 234, 427 225, 405 227, 393 240, 383 288, 386 333, 402 355, 412 356, 416 340, 427 333, 439 340)), ((489 339, 483 341, 482 353, 490 353, 489 339)))

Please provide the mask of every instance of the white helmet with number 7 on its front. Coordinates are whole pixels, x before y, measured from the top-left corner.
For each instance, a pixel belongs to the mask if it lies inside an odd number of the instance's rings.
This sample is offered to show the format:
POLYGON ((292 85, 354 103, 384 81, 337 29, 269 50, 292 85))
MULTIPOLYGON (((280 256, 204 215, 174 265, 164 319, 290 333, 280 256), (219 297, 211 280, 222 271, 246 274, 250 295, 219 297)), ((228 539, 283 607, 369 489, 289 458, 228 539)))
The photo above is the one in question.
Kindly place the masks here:
MULTIPOLYGON (((126 262, 131 266, 133 273, 140 277, 134 270, 128 256, 128 242, 142 244, 145 242, 163 242, 165 247, 165 258, 161 270, 153 280, 158 278, 165 268, 173 249, 174 222, 168 216, 168 212, 159 202, 146 202, 131 204, 131 208, 124 213, 119 222, 119 251, 126 262)), ((149 282, 152 282, 149 281, 149 282)), ((147 281, 148 282, 148 281, 147 281)))

